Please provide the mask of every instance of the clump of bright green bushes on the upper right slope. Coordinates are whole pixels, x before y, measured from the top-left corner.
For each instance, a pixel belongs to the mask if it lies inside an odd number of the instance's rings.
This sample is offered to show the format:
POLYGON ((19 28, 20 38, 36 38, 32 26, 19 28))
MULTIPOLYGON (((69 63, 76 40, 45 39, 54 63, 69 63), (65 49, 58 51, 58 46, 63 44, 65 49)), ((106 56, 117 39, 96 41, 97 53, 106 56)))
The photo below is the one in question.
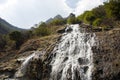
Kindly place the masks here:
POLYGON ((91 11, 85 11, 77 19, 93 25, 93 28, 111 29, 115 27, 116 21, 120 20, 120 1, 109 0, 104 2, 104 5, 100 5, 91 11))

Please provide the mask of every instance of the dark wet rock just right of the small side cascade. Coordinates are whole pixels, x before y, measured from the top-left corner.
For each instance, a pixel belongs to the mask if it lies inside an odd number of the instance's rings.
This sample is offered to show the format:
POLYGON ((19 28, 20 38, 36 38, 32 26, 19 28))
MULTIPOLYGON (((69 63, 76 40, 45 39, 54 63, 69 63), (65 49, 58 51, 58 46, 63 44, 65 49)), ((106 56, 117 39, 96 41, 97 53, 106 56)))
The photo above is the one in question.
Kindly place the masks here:
POLYGON ((19 80, 41 80, 43 63, 40 58, 31 58, 25 68, 16 73, 19 80), (23 71, 24 70, 24 71, 23 71))

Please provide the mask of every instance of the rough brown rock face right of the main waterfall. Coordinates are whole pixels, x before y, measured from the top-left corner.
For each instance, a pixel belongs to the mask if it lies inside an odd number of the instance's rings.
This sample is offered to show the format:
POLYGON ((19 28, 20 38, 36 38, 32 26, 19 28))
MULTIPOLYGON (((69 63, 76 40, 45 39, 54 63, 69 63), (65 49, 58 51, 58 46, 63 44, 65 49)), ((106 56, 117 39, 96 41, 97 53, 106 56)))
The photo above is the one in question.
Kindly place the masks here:
POLYGON ((120 80, 120 29, 98 32, 93 49, 93 80, 120 80))

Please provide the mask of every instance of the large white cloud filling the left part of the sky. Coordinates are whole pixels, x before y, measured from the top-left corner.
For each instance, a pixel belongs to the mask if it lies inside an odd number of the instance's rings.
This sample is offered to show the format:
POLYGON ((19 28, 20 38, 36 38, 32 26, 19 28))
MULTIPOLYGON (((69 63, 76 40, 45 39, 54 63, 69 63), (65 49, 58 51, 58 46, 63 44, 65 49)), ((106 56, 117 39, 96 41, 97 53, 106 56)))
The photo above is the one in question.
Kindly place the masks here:
POLYGON ((21 28, 30 28, 57 14, 67 16, 70 11, 64 0, 7 0, 0 5, 0 17, 21 28))

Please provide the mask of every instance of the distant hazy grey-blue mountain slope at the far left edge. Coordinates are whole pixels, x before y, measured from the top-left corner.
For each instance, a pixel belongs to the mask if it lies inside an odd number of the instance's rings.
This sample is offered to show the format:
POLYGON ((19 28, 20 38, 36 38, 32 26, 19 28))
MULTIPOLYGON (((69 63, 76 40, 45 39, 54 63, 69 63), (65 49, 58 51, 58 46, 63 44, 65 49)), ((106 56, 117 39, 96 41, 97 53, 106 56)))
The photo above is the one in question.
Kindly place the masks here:
POLYGON ((0 18, 0 34, 7 34, 11 31, 21 31, 23 29, 17 28, 16 26, 11 25, 4 19, 0 18))

